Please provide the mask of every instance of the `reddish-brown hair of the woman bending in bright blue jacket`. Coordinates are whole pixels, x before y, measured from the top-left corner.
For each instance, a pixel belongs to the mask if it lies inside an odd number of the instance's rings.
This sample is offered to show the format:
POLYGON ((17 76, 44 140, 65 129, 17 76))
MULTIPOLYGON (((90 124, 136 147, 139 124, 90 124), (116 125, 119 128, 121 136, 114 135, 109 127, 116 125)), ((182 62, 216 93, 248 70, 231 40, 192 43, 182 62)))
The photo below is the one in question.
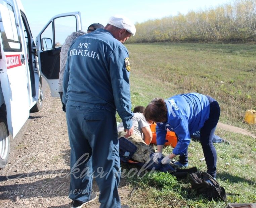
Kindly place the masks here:
POLYGON ((167 107, 163 98, 155 98, 144 110, 146 121, 165 122, 167 120, 167 107))

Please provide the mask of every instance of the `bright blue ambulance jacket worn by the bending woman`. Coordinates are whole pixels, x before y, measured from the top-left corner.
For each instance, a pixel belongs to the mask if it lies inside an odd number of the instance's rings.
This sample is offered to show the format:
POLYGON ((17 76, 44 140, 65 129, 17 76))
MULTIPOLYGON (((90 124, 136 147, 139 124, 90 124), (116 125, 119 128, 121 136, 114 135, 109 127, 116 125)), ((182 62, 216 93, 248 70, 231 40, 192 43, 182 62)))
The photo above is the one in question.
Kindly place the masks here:
POLYGON ((173 154, 185 154, 190 143, 190 134, 200 130, 209 118, 209 100, 205 95, 189 93, 175 95, 165 100, 167 122, 157 123, 157 145, 165 143, 166 128, 178 136, 173 154))

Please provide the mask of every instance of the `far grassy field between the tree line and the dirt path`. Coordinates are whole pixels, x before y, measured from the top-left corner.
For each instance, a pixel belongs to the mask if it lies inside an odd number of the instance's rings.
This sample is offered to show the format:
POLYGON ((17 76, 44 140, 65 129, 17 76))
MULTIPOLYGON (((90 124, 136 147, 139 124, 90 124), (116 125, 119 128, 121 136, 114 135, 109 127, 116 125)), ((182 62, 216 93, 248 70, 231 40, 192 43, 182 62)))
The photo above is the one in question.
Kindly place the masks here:
POLYGON ((131 63, 132 106, 155 97, 198 92, 215 98, 220 121, 256 134, 243 123, 256 110, 256 45, 154 43, 126 44, 131 63))

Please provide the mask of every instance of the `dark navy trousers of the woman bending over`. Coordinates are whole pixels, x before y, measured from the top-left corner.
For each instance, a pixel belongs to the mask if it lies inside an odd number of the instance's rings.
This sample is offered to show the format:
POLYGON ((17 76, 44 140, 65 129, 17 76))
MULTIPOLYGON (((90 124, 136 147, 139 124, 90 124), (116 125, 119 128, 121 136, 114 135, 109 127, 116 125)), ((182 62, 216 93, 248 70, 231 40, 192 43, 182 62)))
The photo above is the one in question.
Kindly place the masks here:
MULTIPOLYGON (((204 126, 200 130, 200 141, 204 152, 207 172, 213 177, 216 176, 217 153, 213 146, 213 135, 220 117, 220 107, 216 100, 207 96, 210 103, 209 118, 205 121, 204 126)), ((188 162, 188 151, 185 155, 179 156, 179 162, 185 164, 188 162)))

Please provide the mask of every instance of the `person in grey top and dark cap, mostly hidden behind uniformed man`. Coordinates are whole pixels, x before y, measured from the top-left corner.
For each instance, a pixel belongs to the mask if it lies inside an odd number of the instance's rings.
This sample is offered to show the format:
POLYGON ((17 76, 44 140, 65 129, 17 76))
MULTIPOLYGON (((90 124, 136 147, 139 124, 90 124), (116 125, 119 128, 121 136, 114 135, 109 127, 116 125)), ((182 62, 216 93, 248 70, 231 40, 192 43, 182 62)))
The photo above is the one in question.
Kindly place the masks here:
MULTIPOLYGON (((95 31, 98 28, 104 28, 104 26, 100 23, 93 23, 91 24, 88 29, 87 29, 87 33, 91 33, 93 31, 95 31)), ((63 94, 63 86, 62 86, 62 82, 63 82, 63 74, 66 68, 66 63, 67 63, 67 56, 68 56, 68 51, 69 48, 71 46, 71 44, 73 43, 73 41, 80 37, 81 35, 85 35, 86 32, 79 30, 77 32, 73 32, 71 35, 69 35, 65 42, 63 43, 62 47, 61 47, 61 51, 60 51, 60 68, 59 68, 59 80, 58 80, 58 86, 59 86, 59 96, 60 96, 60 100, 62 103, 62 109, 63 111, 65 111, 65 106, 64 103, 62 102, 62 94, 63 94)))

